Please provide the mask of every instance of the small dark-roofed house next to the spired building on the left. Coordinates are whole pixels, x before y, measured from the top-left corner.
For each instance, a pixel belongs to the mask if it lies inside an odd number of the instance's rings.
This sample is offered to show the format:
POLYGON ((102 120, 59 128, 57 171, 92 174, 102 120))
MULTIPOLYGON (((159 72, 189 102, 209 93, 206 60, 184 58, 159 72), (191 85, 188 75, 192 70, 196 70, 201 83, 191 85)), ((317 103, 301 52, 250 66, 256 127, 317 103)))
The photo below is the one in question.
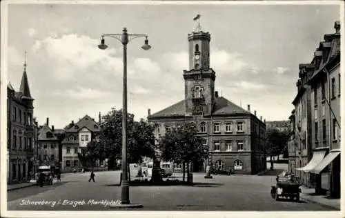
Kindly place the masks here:
POLYGON ((37 137, 37 156, 39 165, 59 168, 59 139, 54 134, 54 126, 49 127, 49 118, 39 129, 37 137))

